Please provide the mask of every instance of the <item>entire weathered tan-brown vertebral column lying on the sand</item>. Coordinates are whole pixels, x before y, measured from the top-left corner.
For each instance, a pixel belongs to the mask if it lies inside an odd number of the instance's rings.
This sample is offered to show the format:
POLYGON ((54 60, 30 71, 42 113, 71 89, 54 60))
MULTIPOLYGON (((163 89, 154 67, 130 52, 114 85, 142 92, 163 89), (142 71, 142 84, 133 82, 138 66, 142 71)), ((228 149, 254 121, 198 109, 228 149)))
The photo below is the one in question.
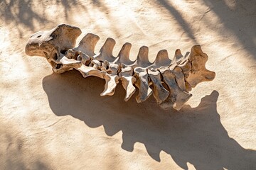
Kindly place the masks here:
POLYGON ((166 50, 160 50, 156 60, 149 62, 149 47, 139 49, 137 60, 129 60, 132 45, 126 42, 117 57, 112 55, 115 40, 107 38, 100 52, 95 53, 99 36, 88 33, 75 47, 81 30, 75 26, 58 25, 52 30, 40 31, 31 36, 26 45, 27 55, 46 57, 53 72, 63 73, 77 69, 83 77, 95 76, 105 79, 105 89, 101 96, 112 96, 119 80, 126 90, 124 101, 128 101, 137 86, 138 103, 151 94, 161 108, 181 109, 191 98, 191 88, 202 81, 211 81, 215 72, 206 69, 208 56, 200 45, 194 45, 185 56, 176 50, 170 60, 166 50))

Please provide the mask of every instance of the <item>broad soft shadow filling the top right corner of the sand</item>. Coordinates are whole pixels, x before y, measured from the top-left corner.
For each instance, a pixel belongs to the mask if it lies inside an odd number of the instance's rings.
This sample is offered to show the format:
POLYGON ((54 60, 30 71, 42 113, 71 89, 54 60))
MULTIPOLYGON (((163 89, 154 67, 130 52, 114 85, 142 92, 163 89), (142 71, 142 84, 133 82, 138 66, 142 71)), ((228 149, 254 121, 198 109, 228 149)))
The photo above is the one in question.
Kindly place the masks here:
MULTIPOLYGON (((234 6, 230 8, 228 1, 204 0, 205 4, 220 18, 227 30, 238 39, 242 49, 250 52, 256 60, 256 3, 255 1, 233 1, 234 6)), ((230 1, 232 2, 232 1, 230 1)), ((219 30, 223 34, 222 30, 219 30)), ((225 35, 224 36, 228 36, 225 35)), ((241 48, 237 47, 236 48, 241 48)))

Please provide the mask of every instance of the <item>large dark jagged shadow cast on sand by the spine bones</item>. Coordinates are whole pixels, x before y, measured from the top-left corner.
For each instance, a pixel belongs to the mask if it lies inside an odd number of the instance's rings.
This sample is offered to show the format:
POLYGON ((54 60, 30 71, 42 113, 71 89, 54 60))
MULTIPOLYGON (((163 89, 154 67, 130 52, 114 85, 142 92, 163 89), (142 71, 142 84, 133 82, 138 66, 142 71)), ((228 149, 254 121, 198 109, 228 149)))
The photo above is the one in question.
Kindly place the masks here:
POLYGON ((120 147, 129 152, 141 142, 157 162, 164 151, 183 169, 188 169, 187 162, 196 169, 256 169, 255 150, 241 147, 221 124, 217 91, 202 98, 198 107, 184 106, 177 112, 161 110, 152 97, 141 104, 134 97, 124 102, 120 84, 114 96, 101 97, 104 84, 96 77, 82 79, 76 71, 43 79, 55 115, 72 115, 90 128, 103 125, 108 136, 122 130, 120 147))

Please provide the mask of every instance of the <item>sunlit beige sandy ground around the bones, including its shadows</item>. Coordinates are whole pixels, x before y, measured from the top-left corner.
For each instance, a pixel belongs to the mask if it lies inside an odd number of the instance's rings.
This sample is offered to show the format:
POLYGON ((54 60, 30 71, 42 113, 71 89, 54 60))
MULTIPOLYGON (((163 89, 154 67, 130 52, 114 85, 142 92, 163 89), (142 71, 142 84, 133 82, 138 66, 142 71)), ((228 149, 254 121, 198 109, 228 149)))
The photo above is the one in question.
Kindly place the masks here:
POLYGON ((0 169, 256 169, 255 1, 3 0, 0 14, 0 169), (181 111, 124 102, 120 84, 100 97, 104 80, 24 53, 59 23, 99 35, 96 51, 131 42, 132 59, 200 44, 216 77, 181 111))

